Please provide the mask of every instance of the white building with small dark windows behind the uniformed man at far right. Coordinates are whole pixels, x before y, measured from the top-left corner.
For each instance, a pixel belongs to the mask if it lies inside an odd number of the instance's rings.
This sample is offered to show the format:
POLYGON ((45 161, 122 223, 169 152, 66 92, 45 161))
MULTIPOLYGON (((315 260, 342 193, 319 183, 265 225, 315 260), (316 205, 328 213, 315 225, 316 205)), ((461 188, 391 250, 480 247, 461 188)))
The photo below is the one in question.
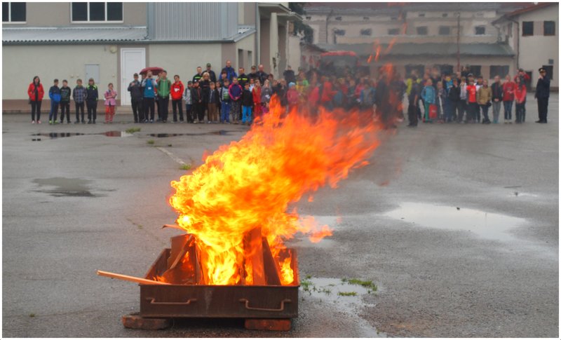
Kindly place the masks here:
POLYGON ((559 89, 559 3, 542 3, 506 13, 493 25, 499 39, 516 53, 516 68, 525 69, 536 85, 538 69, 544 67, 551 88, 559 89))

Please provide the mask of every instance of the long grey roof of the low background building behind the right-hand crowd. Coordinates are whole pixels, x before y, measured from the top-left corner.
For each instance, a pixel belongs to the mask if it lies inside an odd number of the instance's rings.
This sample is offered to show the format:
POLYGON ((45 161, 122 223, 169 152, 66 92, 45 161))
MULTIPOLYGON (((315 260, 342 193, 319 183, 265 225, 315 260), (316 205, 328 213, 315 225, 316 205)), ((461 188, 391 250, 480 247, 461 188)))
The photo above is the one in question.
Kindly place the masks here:
MULTIPOLYGON (((351 50, 357 55, 367 57, 374 50, 372 43, 354 43, 354 44, 316 44, 318 48, 330 50, 351 50)), ((382 45, 382 50, 387 46, 382 45)), ((457 45, 455 43, 396 43, 393 45, 387 55, 398 56, 453 56, 457 53, 457 45)), ((511 46, 506 43, 460 43, 461 55, 473 56, 489 56, 489 57, 511 57, 514 51, 511 46)))

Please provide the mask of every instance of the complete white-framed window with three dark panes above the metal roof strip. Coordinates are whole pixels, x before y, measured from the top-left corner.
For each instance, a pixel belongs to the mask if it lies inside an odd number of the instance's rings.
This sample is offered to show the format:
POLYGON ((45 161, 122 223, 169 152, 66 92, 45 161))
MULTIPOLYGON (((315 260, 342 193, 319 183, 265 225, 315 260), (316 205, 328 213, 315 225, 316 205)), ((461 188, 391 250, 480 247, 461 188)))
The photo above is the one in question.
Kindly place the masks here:
POLYGON ((122 2, 73 2, 72 22, 122 22, 122 2))

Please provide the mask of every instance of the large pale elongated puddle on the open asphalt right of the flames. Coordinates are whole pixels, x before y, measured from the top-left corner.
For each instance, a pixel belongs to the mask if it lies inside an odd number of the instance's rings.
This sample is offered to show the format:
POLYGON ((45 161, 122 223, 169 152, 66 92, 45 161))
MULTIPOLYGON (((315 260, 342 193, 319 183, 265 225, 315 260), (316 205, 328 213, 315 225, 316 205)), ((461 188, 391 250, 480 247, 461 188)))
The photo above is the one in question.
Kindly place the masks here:
POLYGON ((425 203, 403 203, 384 216, 429 228, 471 231, 492 240, 514 240, 508 230, 525 222, 518 217, 482 210, 425 203))

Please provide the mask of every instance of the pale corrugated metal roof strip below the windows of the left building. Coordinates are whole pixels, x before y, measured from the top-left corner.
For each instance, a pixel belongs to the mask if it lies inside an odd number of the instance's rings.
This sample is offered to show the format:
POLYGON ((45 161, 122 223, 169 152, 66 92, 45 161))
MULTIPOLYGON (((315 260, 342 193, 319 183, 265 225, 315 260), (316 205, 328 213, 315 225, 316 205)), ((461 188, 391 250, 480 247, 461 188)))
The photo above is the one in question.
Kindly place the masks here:
POLYGON ((142 41, 146 27, 10 27, 2 43, 108 43, 142 41))

